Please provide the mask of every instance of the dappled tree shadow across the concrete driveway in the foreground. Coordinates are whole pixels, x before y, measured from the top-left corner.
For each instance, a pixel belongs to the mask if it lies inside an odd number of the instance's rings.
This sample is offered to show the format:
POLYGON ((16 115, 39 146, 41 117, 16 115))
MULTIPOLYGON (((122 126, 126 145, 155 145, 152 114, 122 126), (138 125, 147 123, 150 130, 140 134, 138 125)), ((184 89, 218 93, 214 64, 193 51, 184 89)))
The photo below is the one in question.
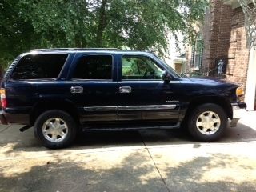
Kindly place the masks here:
POLYGON ((147 154, 131 152, 120 162, 105 162, 89 154, 38 160, 37 166, 20 162, 0 170, 0 191, 254 191, 255 178, 234 179, 230 169, 254 171, 229 155, 214 154, 190 161, 158 164, 161 175, 147 154), (26 166, 22 168, 22 164, 26 166), (104 164, 105 163, 105 164, 104 164), (17 166, 17 165, 16 165, 17 166), (223 171, 225 170, 225 171, 223 171))

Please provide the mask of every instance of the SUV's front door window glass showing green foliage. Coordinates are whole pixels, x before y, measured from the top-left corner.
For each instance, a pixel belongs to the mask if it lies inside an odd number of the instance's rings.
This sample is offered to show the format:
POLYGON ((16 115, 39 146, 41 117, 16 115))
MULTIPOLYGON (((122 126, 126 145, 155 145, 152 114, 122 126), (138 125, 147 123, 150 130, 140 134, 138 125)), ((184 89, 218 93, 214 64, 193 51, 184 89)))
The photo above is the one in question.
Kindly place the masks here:
POLYGON ((122 79, 162 79, 163 70, 150 58, 124 55, 122 79))

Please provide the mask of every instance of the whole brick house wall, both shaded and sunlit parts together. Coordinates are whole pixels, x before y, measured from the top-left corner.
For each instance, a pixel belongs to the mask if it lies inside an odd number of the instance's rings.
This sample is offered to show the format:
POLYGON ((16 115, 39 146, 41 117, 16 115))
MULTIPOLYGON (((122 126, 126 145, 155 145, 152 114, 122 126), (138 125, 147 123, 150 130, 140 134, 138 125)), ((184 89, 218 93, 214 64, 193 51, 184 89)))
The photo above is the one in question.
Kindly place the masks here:
POLYGON ((246 86, 249 50, 246 48, 244 14, 220 0, 211 0, 202 35, 205 41, 202 71, 213 75, 219 59, 226 64, 226 79, 246 86))

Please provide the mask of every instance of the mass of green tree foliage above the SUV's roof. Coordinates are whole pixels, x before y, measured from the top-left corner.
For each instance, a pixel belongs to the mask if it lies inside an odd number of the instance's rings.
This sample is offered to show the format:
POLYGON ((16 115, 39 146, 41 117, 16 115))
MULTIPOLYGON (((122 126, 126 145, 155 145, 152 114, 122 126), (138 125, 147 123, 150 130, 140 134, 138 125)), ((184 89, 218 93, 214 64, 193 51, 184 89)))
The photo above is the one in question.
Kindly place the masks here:
POLYGON ((166 50, 169 33, 193 41, 207 0, 1 0, 0 64, 46 47, 166 50))

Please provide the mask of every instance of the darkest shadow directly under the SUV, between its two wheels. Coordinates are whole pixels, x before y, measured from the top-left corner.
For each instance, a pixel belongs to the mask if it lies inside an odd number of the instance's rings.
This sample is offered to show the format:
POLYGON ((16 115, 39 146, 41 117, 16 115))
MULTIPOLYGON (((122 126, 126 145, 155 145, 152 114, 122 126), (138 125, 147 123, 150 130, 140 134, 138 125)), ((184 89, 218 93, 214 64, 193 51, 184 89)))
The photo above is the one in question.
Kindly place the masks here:
POLYGON ((166 144, 190 142, 183 130, 114 130, 85 131, 75 142, 75 146, 145 146, 147 142, 166 144))

